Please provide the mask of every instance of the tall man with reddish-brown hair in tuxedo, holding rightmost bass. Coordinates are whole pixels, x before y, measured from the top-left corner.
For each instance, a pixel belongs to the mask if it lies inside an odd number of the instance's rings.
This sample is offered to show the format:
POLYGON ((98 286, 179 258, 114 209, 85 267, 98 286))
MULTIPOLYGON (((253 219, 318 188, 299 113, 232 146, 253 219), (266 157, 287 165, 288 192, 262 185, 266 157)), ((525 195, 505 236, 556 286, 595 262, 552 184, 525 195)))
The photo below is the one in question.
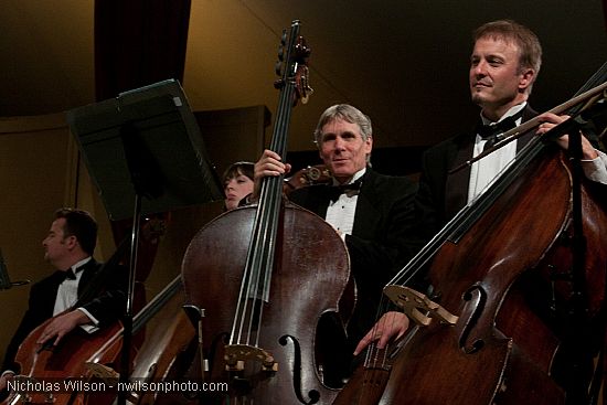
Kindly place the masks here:
MULTIPOLYGON (((423 156, 416 203, 424 212, 423 228, 430 231, 426 236, 434 235, 483 192, 533 136, 545 134, 568 118, 551 113, 539 116, 528 103, 542 64, 542 47, 531 30, 511 20, 499 20, 478 28, 473 41, 469 85, 472 102, 481 108, 480 117, 473 131, 449 138, 423 156), (481 153, 499 135, 533 117, 542 122, 539 128, 471 167, 449 174, 451 169, 481 153)), ((563 136, 557 143, 567 149, 568 136, 563 136)), ((606 154, 584 136, 582 147, 585 175, 607 184, 606 154)), ((402 312, 386 312, 354 353, 360 353, 372 341, 377 341, 377 348, 382 349, 392 339, 404 335, 408 327, 409 319, 402 312)))

